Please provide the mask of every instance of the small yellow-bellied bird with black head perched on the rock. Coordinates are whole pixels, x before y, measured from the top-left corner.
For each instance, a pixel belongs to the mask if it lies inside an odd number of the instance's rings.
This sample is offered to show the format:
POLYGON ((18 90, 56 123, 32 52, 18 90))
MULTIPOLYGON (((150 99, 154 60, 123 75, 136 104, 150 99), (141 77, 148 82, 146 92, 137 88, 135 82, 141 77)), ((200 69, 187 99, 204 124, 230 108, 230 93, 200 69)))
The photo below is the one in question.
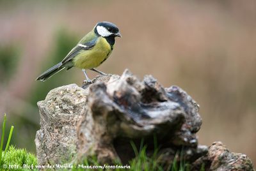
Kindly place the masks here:
POLYGON ((60 63, 49 68, 36 80, 45 81, 64 68, 69 70, 76 66, 83 71, 86 82, 92 83, 92 80, 86 74, 86 70, 106 75, 106 73, 95 68, 108 59, 114 48, 116 36, 122 37, 115 24, 106 21, 98 22, 92 31, 86 34, 60 63))

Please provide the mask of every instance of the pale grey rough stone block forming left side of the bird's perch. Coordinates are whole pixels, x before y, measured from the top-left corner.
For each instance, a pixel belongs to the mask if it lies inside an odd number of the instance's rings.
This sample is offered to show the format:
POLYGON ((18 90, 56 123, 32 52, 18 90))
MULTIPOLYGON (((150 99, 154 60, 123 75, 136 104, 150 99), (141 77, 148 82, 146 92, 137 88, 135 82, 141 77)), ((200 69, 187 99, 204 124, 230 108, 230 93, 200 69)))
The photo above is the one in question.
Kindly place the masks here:
POLYGON ((76 126, 87 110, 87 93, 76 84, 53 89, 38 101, 41 128, 36 132, 39 165, 71 161, 77 153, 76 126))

